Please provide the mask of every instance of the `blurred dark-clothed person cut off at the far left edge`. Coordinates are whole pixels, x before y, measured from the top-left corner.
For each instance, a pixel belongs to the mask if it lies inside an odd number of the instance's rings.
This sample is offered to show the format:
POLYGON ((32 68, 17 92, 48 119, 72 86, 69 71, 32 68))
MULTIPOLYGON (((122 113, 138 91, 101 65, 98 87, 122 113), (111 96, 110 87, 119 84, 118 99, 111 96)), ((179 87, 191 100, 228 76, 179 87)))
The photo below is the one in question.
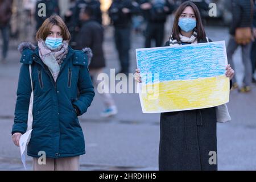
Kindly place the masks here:
POLYGON ((2 63, 6 62, 10 38, 10 19, 13 0, 0 0, 0 30, 2 34, 2 63))

